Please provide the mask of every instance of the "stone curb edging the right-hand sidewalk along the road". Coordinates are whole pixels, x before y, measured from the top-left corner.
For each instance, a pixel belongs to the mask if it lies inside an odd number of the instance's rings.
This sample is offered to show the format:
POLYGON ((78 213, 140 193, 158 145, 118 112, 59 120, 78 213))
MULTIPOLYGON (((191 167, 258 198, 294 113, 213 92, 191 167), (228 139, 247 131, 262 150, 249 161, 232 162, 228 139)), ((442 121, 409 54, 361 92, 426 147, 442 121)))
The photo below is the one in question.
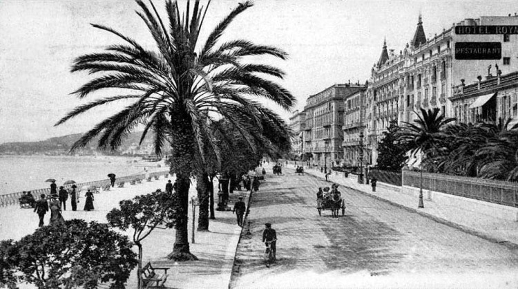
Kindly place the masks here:
MULTIPOLYGON (((311 172, 309 172, 309 171, 307 173, 311 174, 311 172)), ((311 174, 311 176, 314 176, 315 178, 322 178, 322 179, 324 179, 323 177, 316 176, 314 174, 311 174)), ((385 184, 383 184, 383 185, 385 185, 385 184)), ((352 188, 352 187, 349 187, 349 189, 353 189, 355 192, 359 192, 359 193, 361 193, 361 194, 363 194, 365 196, 370 196, 371 198, 375 198, 376 200, 384 201, 385 203, 389 203, 390 205, 394 205, 396 207, 400 207, 401 209, 406 209, 408 212, 413 212, 413 213, 419 214, 421 216, 424 216, 426 218, 430 218, 433 221, 436 221, 437 223, 441 223, 443 225, 447 225, 448 227, 452 227, 452 228, 457 229, 457 230, 459 230, 461 232, 465 232, 466 234, 471 234, 473 236, 477 236, 477 237, 479 237, 481 239, 485 239, 486 241, 490 241, 492 243, 498 243, 499 245, 506 246, 507 248, 510 248, 510 249, 518 249, 518 244, 517 243, 513 243, 513 242, 507 241, 507 240, 497 239, 497 238, 495 238, 493 236, 490 236, 488 234, 479 232, 477 230, 473 230, 470 227, 466 227, 464 225, 460 225, 460 224, 454 223, 452 221, 448 221, 448 220, 446 220, 444 218, 439 218, 438 216, 434 216, 434 215, 426 213, 426 212, 421 212, 421 211, 419 211, 419 209, 414 209, 412 207, 407 207, 407 206, 401 205, 399 203, 394 203, 393 201, 387 200, 386 198, 382 198, 381 196, 376 196, 376 195, 373 195, 373 194, 369 194, 367 192, 363 192, 360 189, 355 189, 355 188, 352 188)))

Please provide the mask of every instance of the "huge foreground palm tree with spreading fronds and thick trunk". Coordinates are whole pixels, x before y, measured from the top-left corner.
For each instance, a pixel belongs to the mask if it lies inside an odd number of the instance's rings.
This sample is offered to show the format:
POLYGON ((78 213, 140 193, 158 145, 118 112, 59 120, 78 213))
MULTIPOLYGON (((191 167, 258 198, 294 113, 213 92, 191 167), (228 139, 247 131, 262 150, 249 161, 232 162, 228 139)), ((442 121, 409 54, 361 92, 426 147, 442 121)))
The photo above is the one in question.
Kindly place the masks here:
POLYGON ((73 72, 95 74, 93 80, 75 94, 83 98, 105 88, 119 88, 118 91, 122 89, 126 93, 115 95, 112 92, 110 97, 78 106, 56 124, 102 104, 135 100, 95 125, 72 149, 83 147, 96 136, 99 136, 99 148, 116 149, 139 125, 144 126, 141 141, 148 131, 154 132, 155 153, 160 155, 169 143, 173 155, 171 173, 176 174, 178 192, 175 244, 169 254, 175 260, 195 259, 189 251, 187 236, 189 178, 205 162, 204 151, 211 150, 219 155, 218 145, 211 136, 211 121, 224 118, 249 139, 251 127, 262 129, 260 118, 278 123, 278 116, 256 99, 273 101, 287 110, 295 102, 289 91, 272 81, 272 78, 282 79, 284 73, 280 69, 247 62, 249 56, 286 59, 287 53, 243 39, 220 43, 229 24, 250 8, 251 2, 240 3, 234 8, 215 26, 204 43, 198 43, 198 36, 211 2, 205 8, 200 6, 200 1, 191 2, 186 1, 185 11, 180 14, 178 3, 167 0, 165 22, 153 2, 146 5, 137 1, 140 6, 137 15, 151 32, 156 50, 144 48, 113 28, 93 25, 117 35, 124 44, 111 45, 102 53, 75 59, 73 72), (209 145, 205 145, 204 140, 209 145))

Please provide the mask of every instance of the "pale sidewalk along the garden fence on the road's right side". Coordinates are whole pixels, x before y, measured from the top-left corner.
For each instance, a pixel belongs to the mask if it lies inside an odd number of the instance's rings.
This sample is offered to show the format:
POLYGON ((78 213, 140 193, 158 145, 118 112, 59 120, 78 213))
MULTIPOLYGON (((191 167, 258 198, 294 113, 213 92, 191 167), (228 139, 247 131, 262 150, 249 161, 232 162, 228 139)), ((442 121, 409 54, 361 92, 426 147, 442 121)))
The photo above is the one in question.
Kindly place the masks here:
MULTIPOLYGON (((286 169, 294 171, 289 165, 286 169)), ((306 169, 305 174, 311 174, 318 178, 325 178, 323 173, 316 169, 306 169)), ((372 192, 370 185, 358 184, 357 176, 345 178, 342 173, 329 175, 329 182, 338 183, 346 187, 351 187, 373 198, 378 198, 394 205, 405 207, 406 209, 434 219, 438 223, 457 227, 459 230, 480 236, 483 239, 501 243, 511 248, 518 248, 518 222, 506 221, 488 214, 472 212, 468 209, 448 205, 438 205, 433 201, 424 198, 424 208, 418 209, 419 199, 407 194, 402 194, 400 187, 388 185, 378 181, 376 192, 372 192)))

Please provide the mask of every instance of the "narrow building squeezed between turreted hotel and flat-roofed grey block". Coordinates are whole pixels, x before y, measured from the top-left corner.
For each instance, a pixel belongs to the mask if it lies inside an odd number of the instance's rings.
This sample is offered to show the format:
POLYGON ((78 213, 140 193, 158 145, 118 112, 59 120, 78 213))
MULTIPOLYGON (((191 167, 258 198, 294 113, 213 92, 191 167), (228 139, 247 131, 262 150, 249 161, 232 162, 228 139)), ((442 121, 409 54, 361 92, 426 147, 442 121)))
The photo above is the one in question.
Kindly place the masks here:
POLYGON ((360 146, 360 133, 366 136, 365 112, 367 93, 365 89, 345 98, 343 113, 343 165, 358 166, 360 149, 363 149, 363 164, 370 163, 370 151, 360 146))

